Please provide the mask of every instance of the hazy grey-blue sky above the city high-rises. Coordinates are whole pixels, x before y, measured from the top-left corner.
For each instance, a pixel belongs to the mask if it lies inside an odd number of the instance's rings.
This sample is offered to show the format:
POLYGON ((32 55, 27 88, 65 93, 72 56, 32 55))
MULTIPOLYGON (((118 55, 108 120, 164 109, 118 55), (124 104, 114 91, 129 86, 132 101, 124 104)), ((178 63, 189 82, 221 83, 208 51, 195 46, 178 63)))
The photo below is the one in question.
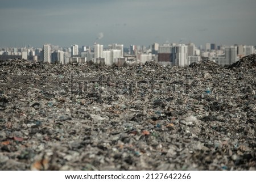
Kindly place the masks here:
POLYGON ((256 0, 0 0, 0 23, 0 46, 256 45, 256 0))

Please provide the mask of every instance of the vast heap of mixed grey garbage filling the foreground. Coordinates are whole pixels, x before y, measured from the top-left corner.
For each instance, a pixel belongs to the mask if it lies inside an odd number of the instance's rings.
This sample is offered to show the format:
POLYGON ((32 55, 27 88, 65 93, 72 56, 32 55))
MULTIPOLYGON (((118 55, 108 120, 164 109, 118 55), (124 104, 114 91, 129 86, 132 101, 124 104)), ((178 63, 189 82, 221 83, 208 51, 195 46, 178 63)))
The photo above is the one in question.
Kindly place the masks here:
POLYGON ((0 61, 0 170, 256 170, 255 54, 222 68, 0 61))

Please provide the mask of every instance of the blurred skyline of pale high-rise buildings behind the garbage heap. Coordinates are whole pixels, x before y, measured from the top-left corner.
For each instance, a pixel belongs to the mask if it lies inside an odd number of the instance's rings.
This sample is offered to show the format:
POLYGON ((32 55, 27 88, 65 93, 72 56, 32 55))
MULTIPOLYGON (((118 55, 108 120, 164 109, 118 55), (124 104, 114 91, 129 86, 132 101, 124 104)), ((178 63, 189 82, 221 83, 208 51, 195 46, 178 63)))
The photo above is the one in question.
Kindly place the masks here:
POLYGON ((255 54, 253 45, 219 46, 206 43, 205 49, 196 48, 189 44, 162 44, 154 43, 151 46, 130 45, 124 48, 123 44, 109 44, 108 47, 94 43, 94 46, 73 44, 69 48, 60 48, 56 45, 44 44, 42 48, 1 48, 0 59, 23 58, 30 61, 43 61, 52 64, 68 64, 69 62, 93 62, 100 65, 138 64, 146 61, 156 61, 161 65, 188 66, 192 62, 203 59, 213 60, 221 66, 231 65, 239 58, 255 54), (125 54, 124 54, 125 52, 125 54))

